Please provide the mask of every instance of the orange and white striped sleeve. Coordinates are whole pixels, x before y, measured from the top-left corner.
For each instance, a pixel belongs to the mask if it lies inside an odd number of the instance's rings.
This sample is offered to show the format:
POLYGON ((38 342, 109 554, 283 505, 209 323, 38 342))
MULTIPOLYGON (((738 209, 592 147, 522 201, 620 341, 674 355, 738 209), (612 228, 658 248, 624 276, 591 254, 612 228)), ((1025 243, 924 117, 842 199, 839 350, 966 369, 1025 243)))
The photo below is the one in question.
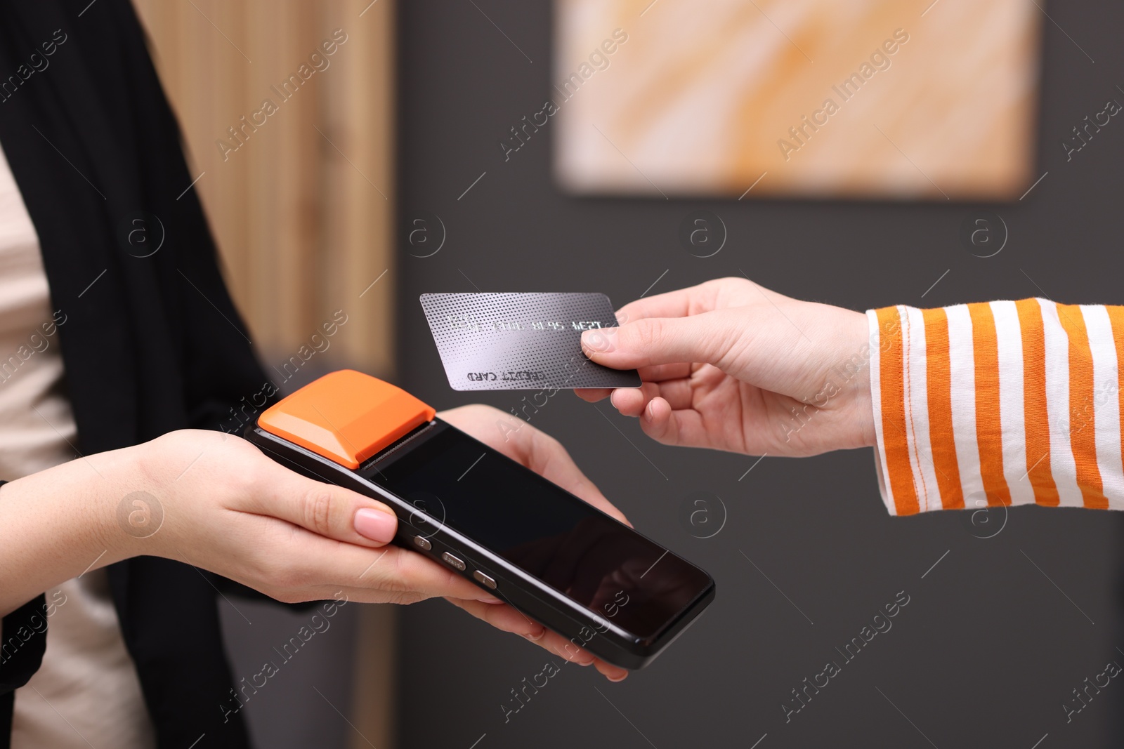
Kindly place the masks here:
POLYGON ((891 514, 1124 510, 1124 307, 1045 299, 868 310, 891 514))

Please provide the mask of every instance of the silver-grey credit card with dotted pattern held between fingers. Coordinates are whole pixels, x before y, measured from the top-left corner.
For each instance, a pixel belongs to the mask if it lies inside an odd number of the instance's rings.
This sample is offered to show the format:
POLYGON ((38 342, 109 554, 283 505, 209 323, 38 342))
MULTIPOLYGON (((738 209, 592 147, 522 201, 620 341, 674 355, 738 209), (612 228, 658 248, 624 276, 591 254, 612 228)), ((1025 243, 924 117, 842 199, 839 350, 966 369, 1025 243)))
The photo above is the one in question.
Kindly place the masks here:
POLYGON ((581 350, 583 331, 617 325, 605 294, 422 294, 422 310, 453 390, 640 387, 581 350))

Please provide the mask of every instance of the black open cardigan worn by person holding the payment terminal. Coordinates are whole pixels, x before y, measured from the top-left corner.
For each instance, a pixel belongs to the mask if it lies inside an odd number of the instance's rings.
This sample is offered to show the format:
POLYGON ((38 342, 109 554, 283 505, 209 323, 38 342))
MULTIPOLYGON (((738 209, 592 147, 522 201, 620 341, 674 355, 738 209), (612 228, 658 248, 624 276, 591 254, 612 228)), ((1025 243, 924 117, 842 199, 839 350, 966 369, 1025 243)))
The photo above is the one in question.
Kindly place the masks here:
MULTIPOLYGON (((66 314, 58 342, 83 454, 216 428, 262 390, 128 0, 0 0, 0 145, 39 236, 52 309, 66 314), (148 257, 129 241, 137 217, 153 240, 163 226, 148 257)), ((220 707, 233 688, 211 587, 223 581, 154 557, 108 574, 158 745, 206 734, 198 749, 248 746, 241 713, 224 720, 220 707)), ((43 604, 3 618, 3 643, 19 642, 0 664, 0 747, 13 689, 43 657, 46 636, 29 625, 43 604)))

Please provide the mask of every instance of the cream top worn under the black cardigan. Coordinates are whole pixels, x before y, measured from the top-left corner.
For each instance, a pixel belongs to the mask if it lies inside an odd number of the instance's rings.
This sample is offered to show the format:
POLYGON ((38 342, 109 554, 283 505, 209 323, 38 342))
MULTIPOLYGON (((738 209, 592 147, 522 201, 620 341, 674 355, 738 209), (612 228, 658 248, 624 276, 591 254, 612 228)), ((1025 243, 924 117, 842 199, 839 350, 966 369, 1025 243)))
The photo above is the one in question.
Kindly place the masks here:
MULTIPOLYGON (((0 150, 0 478, 75 457, 57 321, 35 227, 0 150), (48 335, 49 331, 49 335, 48 335)), ((3 494, 0 492, 0 499, 3 494)), ((16 691, 12 749, 148 749, 155 734, 103 569, 47 591, 43 666, 16 691)))

